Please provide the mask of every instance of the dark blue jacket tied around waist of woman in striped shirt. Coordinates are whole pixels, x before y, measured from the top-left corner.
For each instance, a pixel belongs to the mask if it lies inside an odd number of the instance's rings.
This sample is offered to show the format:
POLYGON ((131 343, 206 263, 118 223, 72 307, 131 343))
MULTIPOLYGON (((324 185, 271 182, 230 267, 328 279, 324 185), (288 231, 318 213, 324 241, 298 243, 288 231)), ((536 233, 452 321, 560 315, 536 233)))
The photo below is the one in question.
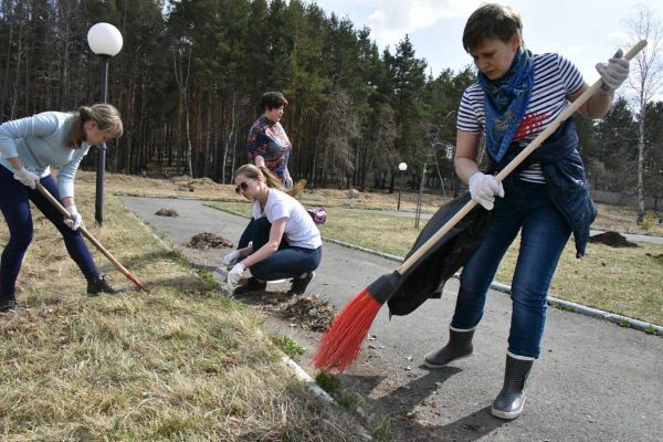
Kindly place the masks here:
MULTIPOLYGON (((518 155, 526 146, 512 144, 508 152, 490 172, 495 173, 518 155)), ((589 240, 589 225, 597 218, 597 207, 591 200, 582 158, 578 152, 578 134, 572 118, 567 119, 548 139, 533 151, 505 180, 518 179, 518 171, 532 164, 541 165, 550 197, 564 219, 573 231, 576 256, 582 257, 589 240)))

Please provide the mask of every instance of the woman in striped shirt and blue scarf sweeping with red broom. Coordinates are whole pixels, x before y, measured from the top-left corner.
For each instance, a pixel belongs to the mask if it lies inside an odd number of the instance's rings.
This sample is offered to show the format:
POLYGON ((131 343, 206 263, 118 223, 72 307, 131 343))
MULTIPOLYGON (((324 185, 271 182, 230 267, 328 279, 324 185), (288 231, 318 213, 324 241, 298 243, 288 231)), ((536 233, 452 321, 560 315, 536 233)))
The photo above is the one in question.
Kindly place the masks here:
MULTIPOLYGON (((463 46, 478 74, 477 82, 461 98, 455 170, 469 183, 472 199, 492 210, 492 219, 487 236, 463 267, 449 341, 428 354, 424 365, 442 368, 472 355, 472 338, 483 316, 486 292, 519 232, 504 386, 492 407, 497 418, 515 419, 523 411, 525 381, 540 355, 546 297, 559 256, 571 232, 577 255, 582 256, 597 212, 571 119, 503 182, 494 175, 588 85, 567 59, 526 50, 520 17, 507 7, 484 4, 474 11, 465 25, 463 46), (482 131, 490 159, 485 172, 476 164, 482 131)), ((581 114, 590 118, 608 112, 614 90, 628 76, 629 61, 615 55, 597 70, 603 88, 580 107, 581 114)))

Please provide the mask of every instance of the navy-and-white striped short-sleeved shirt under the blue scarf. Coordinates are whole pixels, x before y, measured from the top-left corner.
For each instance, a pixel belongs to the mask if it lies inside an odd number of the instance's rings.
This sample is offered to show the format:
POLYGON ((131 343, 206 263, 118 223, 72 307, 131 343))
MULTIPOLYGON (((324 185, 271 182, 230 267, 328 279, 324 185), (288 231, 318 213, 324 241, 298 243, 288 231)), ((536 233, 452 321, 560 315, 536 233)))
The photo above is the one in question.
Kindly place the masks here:
MULTIPOLYGON (((569 105, 568 97, 576 94, 585 80, 578 69, 559 54, 534 55, 534 86, 525 116, 516 130, 514 141, 527 146, 569 105)), ((485 131, 484 93, 474 83, 461 98, 456 128, 471 134, 485 131)), ((540 165, 532 165, 520 172, 520 179, 546 182, 540 165)))

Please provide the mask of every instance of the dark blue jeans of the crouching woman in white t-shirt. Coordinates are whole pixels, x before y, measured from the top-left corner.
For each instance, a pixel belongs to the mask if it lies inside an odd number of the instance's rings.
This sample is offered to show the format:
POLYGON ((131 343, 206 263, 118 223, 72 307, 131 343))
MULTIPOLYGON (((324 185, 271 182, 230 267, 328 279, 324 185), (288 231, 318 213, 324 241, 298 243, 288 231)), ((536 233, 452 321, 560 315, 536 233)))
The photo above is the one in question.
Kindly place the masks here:
MULTIPOLYGON (((243 249, 249 245, 250 241, 253 241, 253 251, 257 251, 270 240, 271 228, 272 223, 267 221, 266 217, 257 220, 252 218, 240 238, 238 248, 243 249)), ((313 272, 320 265, 322 259, 322 246, 317 249, 294 248, 283 239, 276 252, 266 260, 253 264, 249 270, 254 277, 262 281, 283 280, 313 272)))

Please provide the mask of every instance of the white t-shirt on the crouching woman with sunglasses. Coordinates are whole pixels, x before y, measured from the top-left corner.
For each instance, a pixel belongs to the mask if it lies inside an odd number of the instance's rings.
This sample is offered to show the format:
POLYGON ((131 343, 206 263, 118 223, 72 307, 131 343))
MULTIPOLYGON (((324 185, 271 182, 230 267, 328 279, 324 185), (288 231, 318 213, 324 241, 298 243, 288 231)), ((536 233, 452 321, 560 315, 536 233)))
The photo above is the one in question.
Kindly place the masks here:
POLYGON ((323 245, 320 231, 313 219, 299 202, 287 193, 277 189, 270 189, 264 212, 260 202, 253 202, 253 218, 267 217, 267 221, 274 222, 282 218, 285 221, 284 239, 291 246, 317 249, 323 245))

